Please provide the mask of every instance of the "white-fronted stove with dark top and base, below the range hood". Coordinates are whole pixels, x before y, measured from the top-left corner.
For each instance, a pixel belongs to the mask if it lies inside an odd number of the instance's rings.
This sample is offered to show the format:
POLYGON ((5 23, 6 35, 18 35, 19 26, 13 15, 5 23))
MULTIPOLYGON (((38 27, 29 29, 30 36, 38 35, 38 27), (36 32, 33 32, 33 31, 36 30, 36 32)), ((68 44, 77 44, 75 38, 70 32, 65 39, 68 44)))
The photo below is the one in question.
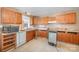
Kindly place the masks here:
POLYGON ((52 46, 56 46, 56 38, 57 37, 57 32, 54 31, 49 31, 48 33, 48 43, 52 46))

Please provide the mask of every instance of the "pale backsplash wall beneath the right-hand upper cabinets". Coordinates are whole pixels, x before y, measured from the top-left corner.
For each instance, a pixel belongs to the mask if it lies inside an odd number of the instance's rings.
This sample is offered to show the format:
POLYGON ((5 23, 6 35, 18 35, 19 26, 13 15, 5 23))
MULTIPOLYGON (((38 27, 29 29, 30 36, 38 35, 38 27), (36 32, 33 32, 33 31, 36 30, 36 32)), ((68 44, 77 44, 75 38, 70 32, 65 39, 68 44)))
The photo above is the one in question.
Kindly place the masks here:
POLYGON ((79 30, 79 25, 77 24, 49 24, 48 26, 54 30, 79 30))

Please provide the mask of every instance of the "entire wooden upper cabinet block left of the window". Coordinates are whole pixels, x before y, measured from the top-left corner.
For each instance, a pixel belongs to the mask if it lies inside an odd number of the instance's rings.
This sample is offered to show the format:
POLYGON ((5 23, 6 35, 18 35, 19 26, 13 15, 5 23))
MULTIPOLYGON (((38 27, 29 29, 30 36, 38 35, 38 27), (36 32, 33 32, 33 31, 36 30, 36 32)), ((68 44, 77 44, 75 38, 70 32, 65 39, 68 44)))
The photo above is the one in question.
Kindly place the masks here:
POLYGON ((2 8, 2 24, 21 24, 22 14, 10 10, 8 8, 2 8))

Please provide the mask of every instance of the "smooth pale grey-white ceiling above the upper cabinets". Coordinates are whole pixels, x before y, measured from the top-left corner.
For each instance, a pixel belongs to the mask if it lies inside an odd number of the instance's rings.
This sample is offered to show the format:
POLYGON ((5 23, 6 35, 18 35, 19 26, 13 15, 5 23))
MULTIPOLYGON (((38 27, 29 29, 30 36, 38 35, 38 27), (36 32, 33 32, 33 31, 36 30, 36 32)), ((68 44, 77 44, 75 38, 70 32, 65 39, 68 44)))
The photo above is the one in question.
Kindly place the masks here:
POLYGON ((33 16, 49 16, 69 10, 79 10, 78 7, 14 7, 15 9, 25 13, 28 12, 33 16))

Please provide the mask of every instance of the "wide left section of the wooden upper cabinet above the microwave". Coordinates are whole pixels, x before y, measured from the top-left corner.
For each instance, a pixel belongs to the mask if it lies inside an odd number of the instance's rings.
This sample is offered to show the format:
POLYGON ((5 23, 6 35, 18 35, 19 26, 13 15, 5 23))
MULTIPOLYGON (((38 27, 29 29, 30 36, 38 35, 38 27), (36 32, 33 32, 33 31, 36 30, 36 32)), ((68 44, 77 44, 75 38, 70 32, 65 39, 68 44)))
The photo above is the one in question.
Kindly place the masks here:
POLYGON ((15 24, 16 13, 7 8, 2 8, 2 24, 15 24))

